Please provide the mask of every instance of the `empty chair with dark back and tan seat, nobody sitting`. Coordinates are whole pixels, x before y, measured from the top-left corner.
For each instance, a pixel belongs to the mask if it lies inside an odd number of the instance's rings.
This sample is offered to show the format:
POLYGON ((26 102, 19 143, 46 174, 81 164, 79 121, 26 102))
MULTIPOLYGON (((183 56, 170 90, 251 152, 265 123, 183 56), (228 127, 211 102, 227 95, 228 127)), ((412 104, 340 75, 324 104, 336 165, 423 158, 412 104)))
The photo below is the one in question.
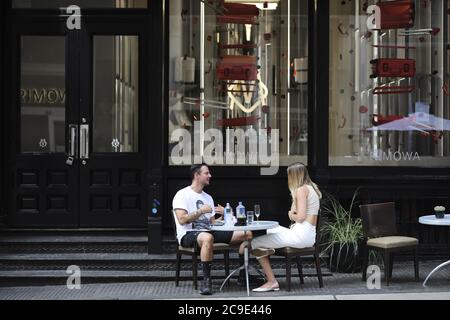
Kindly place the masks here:
POLYGON ((395 203, 379 203, 359 206, 365 237, 363 246, 362 279, 367 278, 369 250, 377 250, 384 254, 384 275, 386 285, 392 278, 393 255, 397 252, 411 251, 414 256, 414 273, 419 281, 419 240, 416 238, 398 236, 395 219, 395 203))

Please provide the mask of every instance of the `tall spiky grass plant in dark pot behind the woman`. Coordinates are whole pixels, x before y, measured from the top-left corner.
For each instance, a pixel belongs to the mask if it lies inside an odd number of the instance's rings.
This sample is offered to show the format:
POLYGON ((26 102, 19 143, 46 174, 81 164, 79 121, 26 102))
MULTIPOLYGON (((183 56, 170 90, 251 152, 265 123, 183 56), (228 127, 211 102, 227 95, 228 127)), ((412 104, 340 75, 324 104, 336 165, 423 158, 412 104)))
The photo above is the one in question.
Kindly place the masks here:
POLYGON ((324 252, 329 255, 332 272, 359 272, 362 261, 359 255, 363 240, 362 221, 352 218, 352 209, 358 190, 349 208, 345 208, 334 196, 327 195, 322 206, 325 222, 321 227, 324 252))

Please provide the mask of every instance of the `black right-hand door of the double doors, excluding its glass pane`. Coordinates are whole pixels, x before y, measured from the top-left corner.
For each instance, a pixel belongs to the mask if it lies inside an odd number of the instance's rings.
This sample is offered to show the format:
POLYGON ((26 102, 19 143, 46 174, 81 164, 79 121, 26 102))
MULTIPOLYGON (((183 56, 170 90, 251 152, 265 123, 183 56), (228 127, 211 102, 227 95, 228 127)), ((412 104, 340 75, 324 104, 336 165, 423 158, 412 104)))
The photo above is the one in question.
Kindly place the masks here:
MULTIPOLYGON (((111 17, 102 17, 101 21, 99 21, 98 17, 94 19, 93 17, 86 17, 83 21, 83 24, 85 26, 84 30, 82 28, 80 33, 80 45, 81 45, 81 52, 80 52, 80 79, 82 80, 80 82, 80 99, 83 100, 80 102, 80 120, 81 117, 87 117, 88 123, 90 126, 90 131, 93 131, 94 128, 94 106, 93 106, 93 92, 94 92, 94 85, 93 85, 93 79, 94 79, 94 54, 93 54, 93 38, 92 36, 114 36, 114 35, 130 35, 130 36, 139 36, 139 56, 138 56, 138 64, 139 64, 139 92, 138 92, 138 127, 139 127, 139 143, 138 143, 138 152, 128 154, 127 153, 94 153, 93 152, 93 134, 89 135, 89 145, 92 146, 90 150, 90 159, 87 161, 86 168, 80 164, 80 188, 86 189, 86 192, 84 194, 79 195, 79 201, 80 201, 80 213, 79 213, 79 226, 82 228, 87 227, 128 227, 128 228, 144 228, 147 223, 147 217, 146 215, 141 215, 139 218, 136 216, 136 211, 134 212, 134 219, 138 218, 139 223, 132 222, 135 220, 132 220, 133 213, 130 211, 129 213, 129 219, 130 221, 123 221, 121 223, 115 222, 115 219, 118 219, 120 221, 120 213, 119 211, 119 199, 114 199, 112 197, 112 201, 115 204, 112 204, 111 206, 116 206, 117 211, 114 211, 112 216, 107 220, 103 221, 104 217, 102 217, 102 214, 95 215, 94 213, 91 213, 92 216, 88 215, 89 212, 89 204, 88 202, 89 197, 91 193, 91 186, 89 184, 89 176, 90 176, 90 169, 91 164, 93 163, 93 167, 95 170, 96 163, 105 162, 108 163, 107 166, 105 166, 105 169, 109 167, 109 163, 111 161, 115 161, 115 168, 119 168, 118 170, 122 170, 124 168, 124 159, 125 162, 130 162, 130 167, 132 167, 133 161, 141 161, 142 165, 139 166, 142 170, 142 174, 140 176, 140 182, 141 182, 141 188, 136 188, 133 186, 130 186, 127 188, 129 189, 130 193, 133 193, 131 190, 134 189, 134 195, 139 192, 139 189, 141 190, 142 199, 138 198, 138 201, 140 200, 141 213, 146 213, 149 211, 150 207, 150 199, 148 198, 148 192, 149 192, 149 186, 147 183, 147 175, 148 175, 148 169, 150 166, 149 162, 149 147, 150 147, 150 126, 146 125, 148 123, 149 119, 149 106, 150 106, 150 96, 147 94, 146 88, 149 87, 150 82, 150 73, 147 70, 150 70, 149 68, 149 48, 150 44, 152 42, 152 35, 150 32, 150 26, 148 23, 148 19, 146 17, 135 17, 132 21, 129 21, 128 19, 117 19, 117 17, 111 18, 111 17), (144 28, 144 30, 142 30, 144 28), (85 79, 85 80, 84 80, 85 79), (140 159, 140 160, 139 160, 140 159), (122 165, 120 165, 122 164, 122 165), (89 172, 89 176, 87 175, 87 172, 89 172), (87 222, 86 222, 87 221, 87 222)), ((81 124, 81 123, 80 123, 81 124)), ((114 165, 112 166, 114 168, 114 165)), ((113 171, 113 170, 111 170, 113 171)), ((114 174, 113 174, 114 175, 114 174)), ((118 177, 116 177, 118 178, 118 177)), ((112 178, 114 180, 114 177, 112 178)), ((117 183, 117 182, 116 182, 117 183)), ((116 192, 119 193, 119 190, 122 190, 123 192, 124 187, 123 186, 117 186, 116 192)), ((93 191, 93 194, 95 192, 93 191)), ((120 194, 122 196, 123 193, 120 194)), ((126 210, 125 210, 126 211, 126 210)))

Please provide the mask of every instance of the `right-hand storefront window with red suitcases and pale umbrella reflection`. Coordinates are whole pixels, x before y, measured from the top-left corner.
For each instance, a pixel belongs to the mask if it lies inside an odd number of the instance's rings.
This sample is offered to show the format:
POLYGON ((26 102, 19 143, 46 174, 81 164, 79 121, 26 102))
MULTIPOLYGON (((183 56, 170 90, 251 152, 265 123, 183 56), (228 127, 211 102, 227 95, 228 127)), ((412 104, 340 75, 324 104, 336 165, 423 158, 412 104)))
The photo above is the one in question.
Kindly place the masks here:
POLYGON ((330 1, 330 165, 449 166, 449 3, 330 1))

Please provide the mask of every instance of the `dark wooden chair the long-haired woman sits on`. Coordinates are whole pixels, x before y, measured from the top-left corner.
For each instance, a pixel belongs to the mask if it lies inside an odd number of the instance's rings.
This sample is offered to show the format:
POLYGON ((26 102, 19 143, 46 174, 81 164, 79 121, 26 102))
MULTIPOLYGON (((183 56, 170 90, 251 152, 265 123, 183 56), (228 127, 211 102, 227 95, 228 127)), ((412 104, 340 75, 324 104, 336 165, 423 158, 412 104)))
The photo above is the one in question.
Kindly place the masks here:
POLYGON ((314 246, 303 249, 296 249, 291 247, 285 247, 275 250, 276 256, 282 256, 285 258, 286 265, 286 282, 287 282, 287 291, 291 291, 291 263, 295 258, 297 261, 297 269, 298 275, 300 278, 300 284, 304 284, 304 276, 303 276, 303 264, 302 257, 304 256, 313 256, 314 263, 316 265, 317 278, 319 279, 319 286, 323 288, 323 279, 322 279, 322 270, 320 268, 320 228, 319 228, 319 218, 317 219, 316 225, 316 243, 314 246))

